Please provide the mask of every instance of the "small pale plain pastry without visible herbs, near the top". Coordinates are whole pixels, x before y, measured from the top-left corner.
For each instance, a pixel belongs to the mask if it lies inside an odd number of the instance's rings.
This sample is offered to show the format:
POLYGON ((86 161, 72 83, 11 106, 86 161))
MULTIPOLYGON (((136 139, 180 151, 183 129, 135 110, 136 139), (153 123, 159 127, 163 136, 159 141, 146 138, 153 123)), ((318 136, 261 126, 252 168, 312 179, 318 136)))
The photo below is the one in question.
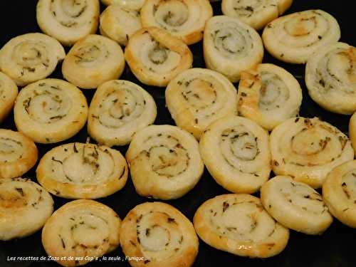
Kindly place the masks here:
POLYGON ((100 15, 100 33, 122 46, 133 33, 142 28, 140 13, 119 5, 108 6, 100 15))

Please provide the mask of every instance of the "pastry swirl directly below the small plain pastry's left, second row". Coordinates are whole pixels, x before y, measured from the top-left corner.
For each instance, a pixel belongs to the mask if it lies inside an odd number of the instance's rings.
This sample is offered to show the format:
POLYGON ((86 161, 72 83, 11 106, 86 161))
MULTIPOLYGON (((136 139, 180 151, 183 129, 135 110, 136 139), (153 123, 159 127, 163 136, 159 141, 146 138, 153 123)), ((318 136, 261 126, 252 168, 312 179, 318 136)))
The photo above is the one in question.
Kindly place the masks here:
POLYGON ((117 79, 125 68, 121 47, 111 39, 91 34, 70 49, 62 65, 63 77, 83 89, 98 88, 117 79))

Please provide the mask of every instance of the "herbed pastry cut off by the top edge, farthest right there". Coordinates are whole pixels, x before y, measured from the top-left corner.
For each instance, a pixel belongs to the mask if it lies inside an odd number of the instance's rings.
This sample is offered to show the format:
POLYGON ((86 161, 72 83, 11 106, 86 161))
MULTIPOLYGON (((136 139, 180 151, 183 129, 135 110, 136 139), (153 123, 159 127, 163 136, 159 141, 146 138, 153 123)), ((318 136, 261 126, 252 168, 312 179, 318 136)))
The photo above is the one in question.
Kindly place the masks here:
POLYGON ((293 0, 223 0, 221 10, 224 15, 244 21, 252 28, 261 30, 268 22, 277 19, 293 0))

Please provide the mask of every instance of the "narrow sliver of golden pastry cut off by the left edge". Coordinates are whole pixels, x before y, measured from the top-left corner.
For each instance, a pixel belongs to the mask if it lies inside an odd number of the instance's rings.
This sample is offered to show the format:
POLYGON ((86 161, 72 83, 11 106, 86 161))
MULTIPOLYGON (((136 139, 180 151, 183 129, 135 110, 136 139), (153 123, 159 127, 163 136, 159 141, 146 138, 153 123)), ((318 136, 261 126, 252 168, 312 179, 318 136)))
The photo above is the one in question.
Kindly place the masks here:
POLYGON ((14 80, 0 72, 0 122, 11 112, 17 93, 19 90, 14 80))

